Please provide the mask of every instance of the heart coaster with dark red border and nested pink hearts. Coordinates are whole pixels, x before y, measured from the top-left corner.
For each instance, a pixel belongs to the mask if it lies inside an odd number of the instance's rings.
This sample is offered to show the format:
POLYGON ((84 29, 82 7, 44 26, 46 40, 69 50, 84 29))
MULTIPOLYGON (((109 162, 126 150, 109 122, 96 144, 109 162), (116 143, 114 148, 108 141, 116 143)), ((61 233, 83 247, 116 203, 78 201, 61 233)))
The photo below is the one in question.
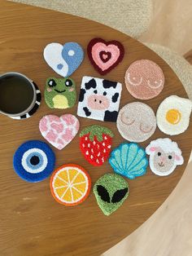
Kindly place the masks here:
POLYGON ((94 38, 87 46, 87 54, 98 73, 105 75, 123 60, 124 46, 115 40, 106 42, 102 38, 94 38))

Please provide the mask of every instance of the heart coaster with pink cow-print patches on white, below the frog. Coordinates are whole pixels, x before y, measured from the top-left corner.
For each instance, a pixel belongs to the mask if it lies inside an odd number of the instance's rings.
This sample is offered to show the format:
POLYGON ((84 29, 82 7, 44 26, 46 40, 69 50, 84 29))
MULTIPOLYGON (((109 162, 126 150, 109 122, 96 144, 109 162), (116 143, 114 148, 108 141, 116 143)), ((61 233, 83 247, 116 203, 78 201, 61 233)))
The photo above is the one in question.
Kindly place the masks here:
POLYGON ((47 115, 42 117, 39 122, 41 135, 59 150, 66 147, 75 138, 79 126, 79 120, 71 114, 61 117, 47 115))

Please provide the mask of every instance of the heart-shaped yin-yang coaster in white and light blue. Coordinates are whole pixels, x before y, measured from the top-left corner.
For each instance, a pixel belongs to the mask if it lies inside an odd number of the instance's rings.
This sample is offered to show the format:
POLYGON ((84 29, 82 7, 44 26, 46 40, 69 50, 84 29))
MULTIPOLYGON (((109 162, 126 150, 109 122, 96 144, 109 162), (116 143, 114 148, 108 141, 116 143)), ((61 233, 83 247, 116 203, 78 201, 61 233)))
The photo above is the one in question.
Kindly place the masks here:
POLYGON ((83 61, 84 51, 77 42, 58 42, 48 44, 43 52, 46 63, 62 77, 68 77, 76 71, 83 61))

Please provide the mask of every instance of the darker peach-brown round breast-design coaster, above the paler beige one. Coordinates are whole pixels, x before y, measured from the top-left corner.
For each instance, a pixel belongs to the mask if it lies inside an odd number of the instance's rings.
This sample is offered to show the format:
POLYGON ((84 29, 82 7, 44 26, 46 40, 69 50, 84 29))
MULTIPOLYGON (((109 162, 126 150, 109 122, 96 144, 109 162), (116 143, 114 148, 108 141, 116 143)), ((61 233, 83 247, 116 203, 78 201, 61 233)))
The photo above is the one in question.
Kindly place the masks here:
POLYGON ((164 73, 151 60, 133 62, 124 78, 129 93, 136 99, 152 99, 164 88, 164 73))

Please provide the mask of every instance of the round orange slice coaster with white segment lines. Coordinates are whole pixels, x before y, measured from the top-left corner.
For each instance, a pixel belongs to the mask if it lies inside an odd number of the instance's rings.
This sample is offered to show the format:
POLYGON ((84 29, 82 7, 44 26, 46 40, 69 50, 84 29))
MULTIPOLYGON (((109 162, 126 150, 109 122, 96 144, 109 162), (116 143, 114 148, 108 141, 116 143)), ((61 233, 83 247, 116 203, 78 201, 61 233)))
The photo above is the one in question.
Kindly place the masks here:
POLYGON ((60 166, 50 178, 51 194, 62 205, 81 204, 89 196, 90 188, 89 174, 81 166, 60 166))

